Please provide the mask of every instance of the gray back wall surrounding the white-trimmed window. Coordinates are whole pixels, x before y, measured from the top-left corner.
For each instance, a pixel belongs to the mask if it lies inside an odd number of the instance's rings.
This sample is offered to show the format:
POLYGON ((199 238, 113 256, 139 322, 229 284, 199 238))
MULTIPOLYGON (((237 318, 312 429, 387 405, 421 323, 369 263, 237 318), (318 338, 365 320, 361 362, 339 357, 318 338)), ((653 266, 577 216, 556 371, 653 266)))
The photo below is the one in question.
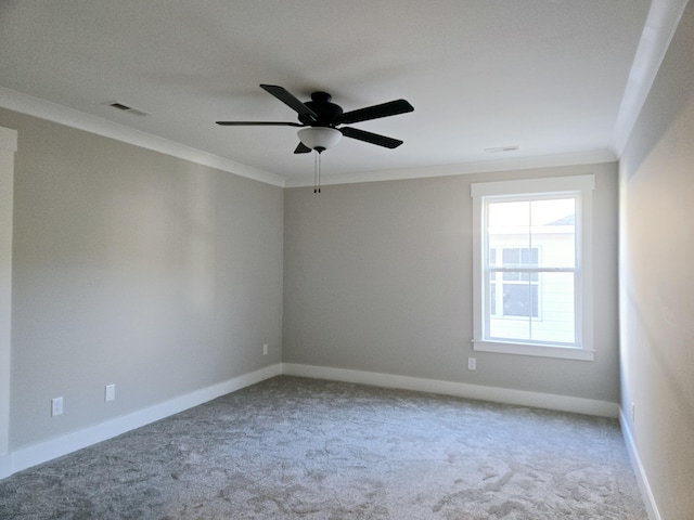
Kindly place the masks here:
POLYGON ((603 164, 286 190, 283 361, 617 403, 617 180, 603 164), (473 353, 470 184, 584 173, 595 361, 473 353))

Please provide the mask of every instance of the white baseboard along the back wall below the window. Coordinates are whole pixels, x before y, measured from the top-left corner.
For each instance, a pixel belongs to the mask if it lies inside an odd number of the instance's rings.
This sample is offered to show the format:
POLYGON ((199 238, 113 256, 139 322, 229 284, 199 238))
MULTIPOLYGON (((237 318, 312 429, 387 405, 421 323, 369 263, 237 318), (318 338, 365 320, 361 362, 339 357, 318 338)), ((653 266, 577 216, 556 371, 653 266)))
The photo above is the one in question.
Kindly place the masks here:
POLYGON ((326 366, 283 363, 282 374, 287 376, 312 377, 345 382, 357 382, 386 388, 402 388, 422 392, 441 393, 459 398, 478 399, 505 404, 532 406, 538 408, 573 412, 600 417, 619 417, 619 405, 607 401, 554 395, 549 393, 527 392, 507 388, 483 387, 464 382, 422 379, 417 377, 395 376, 374 372, 350 370, 326 366))

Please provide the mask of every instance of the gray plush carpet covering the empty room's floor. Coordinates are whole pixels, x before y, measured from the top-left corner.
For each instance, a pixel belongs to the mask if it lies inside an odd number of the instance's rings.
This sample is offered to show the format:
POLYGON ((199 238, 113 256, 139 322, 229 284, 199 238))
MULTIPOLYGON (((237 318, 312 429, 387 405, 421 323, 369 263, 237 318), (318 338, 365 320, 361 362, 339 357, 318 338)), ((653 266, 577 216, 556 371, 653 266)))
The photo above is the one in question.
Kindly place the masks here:
POLYGON ((281 376, 0 481, 0 518, 647 516, 615 420, 281 376))

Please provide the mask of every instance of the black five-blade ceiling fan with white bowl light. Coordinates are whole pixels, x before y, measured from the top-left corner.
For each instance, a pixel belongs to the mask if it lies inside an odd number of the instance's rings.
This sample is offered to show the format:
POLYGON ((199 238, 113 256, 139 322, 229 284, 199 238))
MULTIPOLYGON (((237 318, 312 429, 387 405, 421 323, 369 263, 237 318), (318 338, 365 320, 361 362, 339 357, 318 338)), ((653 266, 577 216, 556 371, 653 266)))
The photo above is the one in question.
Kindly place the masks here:
POLYGON ((386 148, 397 148, 402 144, 402 141, 398 139, 351 127, 337 127, 414 110, 412 105, 406 100, 395 100, 365 108, 343 112, 339 105, 331 102, 332 96, 327 92, 313 92, 311 94, 311 101, 303 103, 283 87, 277 84, 260 84, 260 88, 296 112, 299 122, 217 121, 217 125, 224 127, 281 126, 301 128, 301 130, 298 131, 299 144, 294 151, 295 154, 307 154, 313 150, 320 154, 337 144, 343 135, 386 148))

